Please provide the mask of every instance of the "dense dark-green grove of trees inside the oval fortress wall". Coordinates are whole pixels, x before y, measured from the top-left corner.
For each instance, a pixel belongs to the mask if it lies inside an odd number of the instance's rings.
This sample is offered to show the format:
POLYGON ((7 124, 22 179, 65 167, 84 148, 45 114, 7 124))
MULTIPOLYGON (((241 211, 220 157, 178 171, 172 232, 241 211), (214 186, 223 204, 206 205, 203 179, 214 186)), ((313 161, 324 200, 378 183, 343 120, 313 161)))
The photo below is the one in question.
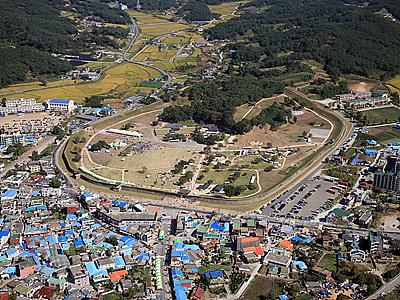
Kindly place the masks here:
POLYGON ((279 104, 272 104, 251 120, 236 122, 233 115, 237 106, 282 93, 284 87, 281 82, 252 75, 200 82, 189 91, 190 104, 165 108, 162 119, 173 123, 194 120, 200 124, 215 124, 231 134, 242 134, 266 123, 276 127, 290 117, 290 111, 279 104))

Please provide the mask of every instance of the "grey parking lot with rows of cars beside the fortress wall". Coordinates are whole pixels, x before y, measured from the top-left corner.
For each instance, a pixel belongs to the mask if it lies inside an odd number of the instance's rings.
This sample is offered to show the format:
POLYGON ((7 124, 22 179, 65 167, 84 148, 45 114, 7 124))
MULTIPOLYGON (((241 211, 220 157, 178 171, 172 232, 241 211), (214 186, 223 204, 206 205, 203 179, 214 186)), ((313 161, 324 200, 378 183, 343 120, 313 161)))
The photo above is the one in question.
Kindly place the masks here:
POLYGON ((276 205, 276 216, 302 220, 315 219, 319 213, 329 209, 333 199, 338 195, 327 190, 337 186, 336 183, 312 179, 303 184, 287 200, 276 205))

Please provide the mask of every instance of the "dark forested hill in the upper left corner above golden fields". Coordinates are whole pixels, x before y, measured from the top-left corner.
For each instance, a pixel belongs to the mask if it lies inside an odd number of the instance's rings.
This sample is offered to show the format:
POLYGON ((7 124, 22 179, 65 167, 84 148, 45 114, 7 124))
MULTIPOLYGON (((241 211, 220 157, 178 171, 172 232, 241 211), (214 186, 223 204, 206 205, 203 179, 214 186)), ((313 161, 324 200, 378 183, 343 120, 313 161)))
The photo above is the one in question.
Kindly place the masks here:
POLYGON ((0 87, 70 68, 50 55, 80 47, 71 38, 75 27, 59 14, 55 1, 0 1, 0 87))

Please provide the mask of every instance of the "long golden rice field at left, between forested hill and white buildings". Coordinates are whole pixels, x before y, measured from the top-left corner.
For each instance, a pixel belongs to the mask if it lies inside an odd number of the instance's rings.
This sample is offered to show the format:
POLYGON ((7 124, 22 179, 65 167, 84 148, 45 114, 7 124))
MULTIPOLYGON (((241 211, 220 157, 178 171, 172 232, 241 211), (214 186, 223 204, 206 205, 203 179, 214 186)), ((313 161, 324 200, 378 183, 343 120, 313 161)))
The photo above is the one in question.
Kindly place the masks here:
POLYGON ((39 91, 12 95, 8 98, 35 98, 45 101, 49 98, 64 98, 75 101, 83 101, 85 97, 94 95, 110 95, 114 97, 125 97, 138 90, 150 92, 150 88, 138 87, 142 80, 159 77, 161 74, 151 68, 123 63, 110 68, 103 79, 93 83, 85 83, 74 86, 48 88, 39 91))

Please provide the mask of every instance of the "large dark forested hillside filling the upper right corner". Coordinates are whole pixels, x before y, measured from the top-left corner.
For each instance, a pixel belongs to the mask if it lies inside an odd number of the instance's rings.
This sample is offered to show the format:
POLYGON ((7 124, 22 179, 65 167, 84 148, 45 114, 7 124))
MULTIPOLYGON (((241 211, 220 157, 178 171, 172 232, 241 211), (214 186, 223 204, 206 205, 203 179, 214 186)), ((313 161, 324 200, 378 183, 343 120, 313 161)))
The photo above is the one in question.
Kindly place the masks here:
POLYGON ((334 78, 351 73, 386 79, 400 72, 399 1, 364 2, 255 0, 246 5, 248 13, 206 33, 209 39, 240 39, 251 45, 241 47, 235 59, 260 67, 315 59, 334 78), (382 9, 397 21, 382 15, 382 9))

